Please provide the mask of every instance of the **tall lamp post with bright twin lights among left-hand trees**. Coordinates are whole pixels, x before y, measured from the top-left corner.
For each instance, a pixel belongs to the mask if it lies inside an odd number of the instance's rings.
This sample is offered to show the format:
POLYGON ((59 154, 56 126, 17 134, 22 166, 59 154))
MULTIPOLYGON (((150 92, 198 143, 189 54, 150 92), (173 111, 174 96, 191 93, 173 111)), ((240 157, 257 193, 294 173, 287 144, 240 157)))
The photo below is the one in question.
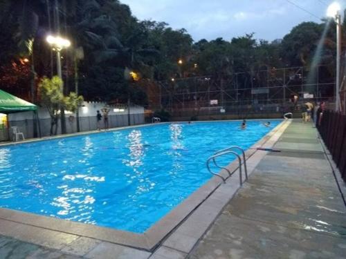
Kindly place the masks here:
MULTIPOLYGON (((56 50, 57 52, 57 76, 62 79, 62 61, 60 57, 60 51, 63 48, 69 48, 71 46, 71 41, 68 39, 63 39, 62 37, 54 37, 52 35, 49 35, 46 37, 46 41, 49 45, 53 48, 53 50, 56 50)), ((64 95, 64 86, 62 87, 62 94, 64 95)), ((65 111, 64 107, 60 107, 60 119, 62 124, 62 134, 66 133, 66 119, 65 119, 65 111)))

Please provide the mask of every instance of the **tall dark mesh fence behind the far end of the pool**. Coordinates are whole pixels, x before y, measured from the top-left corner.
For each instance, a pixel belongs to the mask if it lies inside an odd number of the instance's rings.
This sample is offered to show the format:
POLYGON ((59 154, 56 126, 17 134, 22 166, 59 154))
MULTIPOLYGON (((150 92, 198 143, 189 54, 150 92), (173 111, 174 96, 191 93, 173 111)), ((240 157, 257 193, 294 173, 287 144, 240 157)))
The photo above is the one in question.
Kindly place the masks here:
POLYGON ((262 111, 286 108, 293 96, 300 102, 334 102, 335 78, 330 66, 272 68, 233 73, 223 77, 187 77, 158 81, 150 86, 150 109, 165 109, 173 116, 195 111, 217 115, 246 112, 247 106, 262 111), (307 97, 309 94, 311 97, 307 97), (262 109, 262 110, 261 110, 262 109))

